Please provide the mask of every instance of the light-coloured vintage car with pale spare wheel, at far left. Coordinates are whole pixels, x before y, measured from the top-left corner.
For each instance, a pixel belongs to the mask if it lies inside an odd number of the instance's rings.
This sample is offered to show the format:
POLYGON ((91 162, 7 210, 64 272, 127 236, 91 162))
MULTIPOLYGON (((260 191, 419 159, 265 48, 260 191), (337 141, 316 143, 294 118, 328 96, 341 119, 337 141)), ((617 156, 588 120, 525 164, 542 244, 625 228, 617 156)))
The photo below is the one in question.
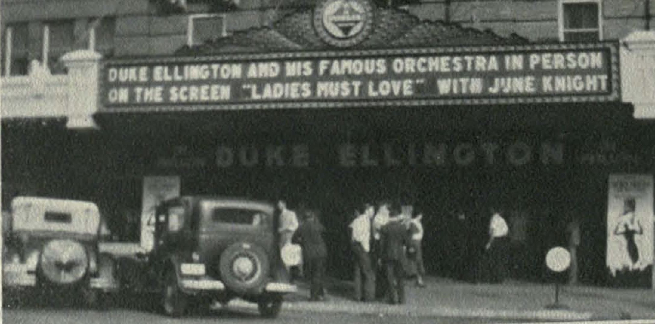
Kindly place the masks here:
POLYGON ((28 291, 77 291, 90 306, 102 306, 105 293, 117 289, 110 259, 98 253, 103 223, 96 204, 20 196, 9 216, 2 255, 6 302, 28 291))

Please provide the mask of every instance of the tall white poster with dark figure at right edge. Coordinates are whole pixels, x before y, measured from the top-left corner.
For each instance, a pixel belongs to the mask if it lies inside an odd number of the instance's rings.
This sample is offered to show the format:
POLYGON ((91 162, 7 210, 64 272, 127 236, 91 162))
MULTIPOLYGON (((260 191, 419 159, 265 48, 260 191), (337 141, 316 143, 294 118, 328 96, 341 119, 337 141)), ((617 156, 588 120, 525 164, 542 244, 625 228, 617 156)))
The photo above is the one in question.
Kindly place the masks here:
POLYGON ((610 175, 606 260, 611 276, 622 285, 650 281, 653 215, 652 175, 610 175))

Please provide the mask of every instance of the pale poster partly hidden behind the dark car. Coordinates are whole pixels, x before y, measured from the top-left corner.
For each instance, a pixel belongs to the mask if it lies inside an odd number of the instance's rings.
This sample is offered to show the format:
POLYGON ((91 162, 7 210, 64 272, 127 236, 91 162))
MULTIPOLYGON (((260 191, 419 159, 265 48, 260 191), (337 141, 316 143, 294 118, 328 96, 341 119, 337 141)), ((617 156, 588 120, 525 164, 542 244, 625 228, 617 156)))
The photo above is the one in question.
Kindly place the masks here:
POLYGON ((179 177, 143 177, 143 200, 141 202, 141 247, 153 249, 155 243, 155 207, 160 202, 179 196, 179 177))

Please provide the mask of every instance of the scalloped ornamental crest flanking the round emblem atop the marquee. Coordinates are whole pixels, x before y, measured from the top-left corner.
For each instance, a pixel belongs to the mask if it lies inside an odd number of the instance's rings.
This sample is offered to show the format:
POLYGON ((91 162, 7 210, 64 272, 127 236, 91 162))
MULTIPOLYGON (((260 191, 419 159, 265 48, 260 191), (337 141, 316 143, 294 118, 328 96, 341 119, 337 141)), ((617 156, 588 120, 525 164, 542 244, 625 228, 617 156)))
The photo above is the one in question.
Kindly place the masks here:
MULTIPOLYGON (((375 8, 373 30, 350 49, 407 48, 458 45, 521 45, 527 39, 512 34, 502 37, 492 31, 462 27, 441 21, 421 21, 405 10, 375 8)), ((198 46, 183 46, 178 55, 333 50, 322 41, 312 24, 313 10, 301 9, 282 17, 272 27, 238 31, 198 46)))

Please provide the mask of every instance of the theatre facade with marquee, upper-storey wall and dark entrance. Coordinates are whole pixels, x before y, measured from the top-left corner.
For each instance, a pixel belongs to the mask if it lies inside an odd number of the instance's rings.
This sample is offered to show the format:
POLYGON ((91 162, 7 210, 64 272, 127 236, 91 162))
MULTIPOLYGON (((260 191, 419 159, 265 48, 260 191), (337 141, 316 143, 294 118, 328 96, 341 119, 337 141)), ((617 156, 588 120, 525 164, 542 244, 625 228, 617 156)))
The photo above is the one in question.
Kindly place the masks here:
POLYGON ((144 179, 178 179, 320 209, 337 265, 354 207, 393 200, 428 214, 430 272, 471 276, 499 207, 512 276, 552 278, 578 218, 580 278, 612 282, 608 177, 655 173, 652 98, 625 95, 652 73, 624 77, 650 34, 618 41, 647 1, 351 1, 349 25, 335 2, 6 1, 3 206, 92 200, 137 241, 144 179))

